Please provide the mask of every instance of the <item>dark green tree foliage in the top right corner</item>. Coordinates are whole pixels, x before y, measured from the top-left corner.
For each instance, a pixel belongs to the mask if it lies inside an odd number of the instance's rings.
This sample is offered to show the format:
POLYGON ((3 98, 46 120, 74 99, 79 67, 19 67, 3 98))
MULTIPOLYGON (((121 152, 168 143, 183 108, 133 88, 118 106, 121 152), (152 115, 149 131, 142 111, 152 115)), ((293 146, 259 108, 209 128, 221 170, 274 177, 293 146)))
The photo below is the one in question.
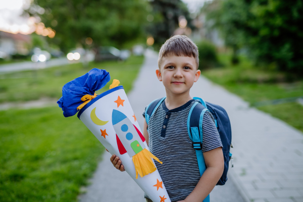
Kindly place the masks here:
POLYGON ((248 48, 258 62, 303 75, 303 2, 215 0, 205 8, 226 45, 248 48))

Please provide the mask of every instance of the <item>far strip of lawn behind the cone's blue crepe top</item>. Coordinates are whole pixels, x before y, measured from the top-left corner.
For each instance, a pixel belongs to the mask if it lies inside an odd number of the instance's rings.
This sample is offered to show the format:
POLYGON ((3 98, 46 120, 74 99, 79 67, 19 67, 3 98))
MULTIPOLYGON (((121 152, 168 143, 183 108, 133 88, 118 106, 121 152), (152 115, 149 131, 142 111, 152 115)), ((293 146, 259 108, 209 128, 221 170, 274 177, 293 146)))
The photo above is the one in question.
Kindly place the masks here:
POLYGON ((0 74, 0 103, 35 100, 41 97, 60 98, 62 86, 92 68, 105 69, 111 74, 111 81, 96 91, 100 94, 109 89, 113 79, 120 80, 126 91, 132 87, 143 57, 130 57, 125 62, 90 63, 83 68, 82 63, 69 64, 49 69, 0 74))

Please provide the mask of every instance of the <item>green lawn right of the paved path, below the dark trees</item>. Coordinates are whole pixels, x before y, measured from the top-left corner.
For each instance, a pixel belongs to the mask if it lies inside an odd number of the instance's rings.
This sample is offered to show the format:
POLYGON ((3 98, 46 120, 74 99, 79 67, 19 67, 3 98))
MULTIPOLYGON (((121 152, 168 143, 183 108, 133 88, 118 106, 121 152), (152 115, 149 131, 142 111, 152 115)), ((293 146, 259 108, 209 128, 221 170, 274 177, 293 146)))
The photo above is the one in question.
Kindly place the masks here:
MULTIPOLYGON (((303 79, 286 82, 287 75, 253 67, 245 58, 241 58, 240 64, 236 66, 229 64, 226 55, 221 55, 220 61, 224 64, 223 68, 204 70, 202 74, 251 105, 266 100, 303 96, 303 79)), ((303 131, 303 106, 298 103, 266 105, 258 109, 303 131)))

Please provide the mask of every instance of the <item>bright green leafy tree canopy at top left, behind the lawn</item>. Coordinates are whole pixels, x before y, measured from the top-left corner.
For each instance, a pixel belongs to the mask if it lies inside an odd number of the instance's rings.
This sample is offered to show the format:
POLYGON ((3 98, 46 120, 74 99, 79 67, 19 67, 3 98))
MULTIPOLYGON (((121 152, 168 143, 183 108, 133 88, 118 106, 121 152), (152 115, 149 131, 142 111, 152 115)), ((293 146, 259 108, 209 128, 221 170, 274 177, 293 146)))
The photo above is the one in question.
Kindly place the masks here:
POLYGON ((87 37, 94 46, 116 47, 142 37, 146 5, 140 0, 34 0, 25 12, 55 29, 55 38, 49 40, 66 52, 76 44, 86 46, 87 37), (43 14, 34 12, 37 5, 45 10, 43 14))

